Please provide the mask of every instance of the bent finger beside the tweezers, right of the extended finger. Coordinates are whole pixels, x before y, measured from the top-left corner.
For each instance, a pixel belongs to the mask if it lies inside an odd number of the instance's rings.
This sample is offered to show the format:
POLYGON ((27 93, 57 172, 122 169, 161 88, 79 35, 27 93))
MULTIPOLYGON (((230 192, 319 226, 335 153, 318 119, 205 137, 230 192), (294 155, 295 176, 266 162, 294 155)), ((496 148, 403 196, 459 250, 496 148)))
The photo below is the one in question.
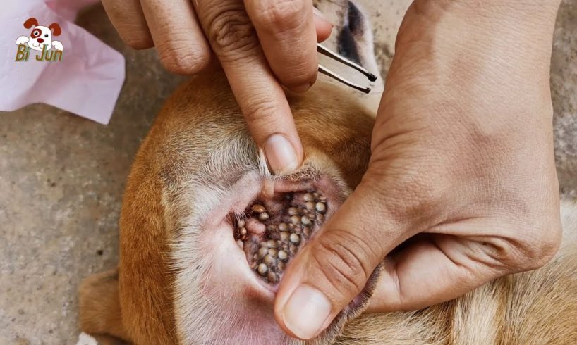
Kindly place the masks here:
POLYGON ((317 28, 310 0, 245 0, 267 61, 284 86, 306 91, 317 78, 317 28))

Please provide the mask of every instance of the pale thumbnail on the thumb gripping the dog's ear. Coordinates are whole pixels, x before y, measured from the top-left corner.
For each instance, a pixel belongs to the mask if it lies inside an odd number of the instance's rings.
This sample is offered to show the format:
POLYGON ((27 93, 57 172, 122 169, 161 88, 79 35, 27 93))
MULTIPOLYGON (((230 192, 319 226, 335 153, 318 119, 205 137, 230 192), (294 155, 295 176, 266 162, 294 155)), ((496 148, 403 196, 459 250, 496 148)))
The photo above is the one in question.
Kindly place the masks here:
POLYGON ((331 313, 331 303, 321 291, 309 285, 300 285, 283 309, 283 320, 300 339, 312 339, 331 313))

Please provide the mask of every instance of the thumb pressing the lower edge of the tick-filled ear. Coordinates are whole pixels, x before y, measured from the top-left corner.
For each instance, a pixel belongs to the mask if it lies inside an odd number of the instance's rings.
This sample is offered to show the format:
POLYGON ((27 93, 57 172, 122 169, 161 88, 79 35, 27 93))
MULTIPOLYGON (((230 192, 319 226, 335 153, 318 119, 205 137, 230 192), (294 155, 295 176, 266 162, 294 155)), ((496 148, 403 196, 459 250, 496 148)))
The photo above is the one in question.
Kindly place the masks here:
POLYGON ((408 237, 387 221, 384 194, 370 184, 361 182, 288 265, 274 315, 293 337, 317 337, 360 294, 384 256, 408 237))

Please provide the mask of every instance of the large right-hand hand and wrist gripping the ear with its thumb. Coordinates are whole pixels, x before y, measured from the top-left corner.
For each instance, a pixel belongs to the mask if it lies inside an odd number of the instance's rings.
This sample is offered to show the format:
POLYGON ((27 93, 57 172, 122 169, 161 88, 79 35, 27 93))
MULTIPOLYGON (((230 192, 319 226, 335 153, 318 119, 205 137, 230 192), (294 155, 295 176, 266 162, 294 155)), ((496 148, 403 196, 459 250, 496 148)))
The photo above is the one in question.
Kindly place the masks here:
POLYGON ((383 260, 370 312, 449 301, 554 256, 549 60, 558 6, 412 4, 368 171, 281 281, 274 313, 285 332, 316 337, 383 260))

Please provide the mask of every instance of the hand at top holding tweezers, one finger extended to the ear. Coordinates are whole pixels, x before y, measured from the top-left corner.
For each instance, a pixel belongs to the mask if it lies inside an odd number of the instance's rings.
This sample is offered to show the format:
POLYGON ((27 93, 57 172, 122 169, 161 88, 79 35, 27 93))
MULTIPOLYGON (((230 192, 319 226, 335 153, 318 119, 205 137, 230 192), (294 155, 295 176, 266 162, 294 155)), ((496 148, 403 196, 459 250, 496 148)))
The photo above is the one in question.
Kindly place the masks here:
POLYGON ((300 165, 303 147, 281 85, 305 92, 317 77, 316 44, 332 25, 311 0, 102 3, 126 44, 156 46, 174 73, 199 72, 214 52, 269 168, 279 173, 300 165))

